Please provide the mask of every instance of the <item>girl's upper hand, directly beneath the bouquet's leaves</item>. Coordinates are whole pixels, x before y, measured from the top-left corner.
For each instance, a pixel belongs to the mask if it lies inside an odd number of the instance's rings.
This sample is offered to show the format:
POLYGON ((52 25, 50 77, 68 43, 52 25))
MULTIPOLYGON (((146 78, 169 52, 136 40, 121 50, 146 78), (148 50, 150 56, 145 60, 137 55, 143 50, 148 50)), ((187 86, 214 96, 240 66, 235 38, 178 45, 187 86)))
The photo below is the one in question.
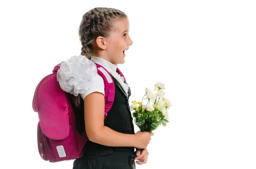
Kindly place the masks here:
POLYGON ((149 144, 149 141, 151 140, 151 136, 154 135, 153 132, 141 132, 141 131, 138 131, 135 133, 135 136, 136 136, 136 148, 138 149, 145 149, 148 144, 149 144))

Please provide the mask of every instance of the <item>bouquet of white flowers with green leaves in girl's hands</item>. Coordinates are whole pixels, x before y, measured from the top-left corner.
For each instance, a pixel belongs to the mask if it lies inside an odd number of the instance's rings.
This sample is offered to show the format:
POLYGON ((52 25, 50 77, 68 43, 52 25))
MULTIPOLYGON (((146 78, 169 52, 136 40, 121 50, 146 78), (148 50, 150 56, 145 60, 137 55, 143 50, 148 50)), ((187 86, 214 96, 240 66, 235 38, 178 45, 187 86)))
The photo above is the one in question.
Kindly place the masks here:
POLYGON ((171 102, 164 97, 165 85, 161 82, 154 84, 154 89, 145 88, 145 95, 143 100, 147 104, 139 101, 132 101, 130 106, 134 112, 134 123, 142 132, 152 132, 156 130, 161 124, 166 126, 168 123, 169 114, 168 109, 172 106, 171 102))

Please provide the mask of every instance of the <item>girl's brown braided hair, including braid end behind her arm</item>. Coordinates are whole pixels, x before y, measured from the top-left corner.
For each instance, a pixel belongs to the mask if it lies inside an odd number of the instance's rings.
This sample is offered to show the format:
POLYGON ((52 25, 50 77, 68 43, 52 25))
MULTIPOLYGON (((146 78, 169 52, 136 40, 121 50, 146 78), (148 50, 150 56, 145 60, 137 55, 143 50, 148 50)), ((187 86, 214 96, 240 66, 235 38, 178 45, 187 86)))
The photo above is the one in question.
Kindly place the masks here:
MULTIPOLYGON (((108 37, 113 31, 113 23, 126 17, 124 12, 115 8, 93 8, 86 12, 79 26, 81 55, 90 59, 93 56, 93 42, 96 38, 108 37)), ((79 107, 80 99, 80 94, 72 99, 76 107, 79 107)))

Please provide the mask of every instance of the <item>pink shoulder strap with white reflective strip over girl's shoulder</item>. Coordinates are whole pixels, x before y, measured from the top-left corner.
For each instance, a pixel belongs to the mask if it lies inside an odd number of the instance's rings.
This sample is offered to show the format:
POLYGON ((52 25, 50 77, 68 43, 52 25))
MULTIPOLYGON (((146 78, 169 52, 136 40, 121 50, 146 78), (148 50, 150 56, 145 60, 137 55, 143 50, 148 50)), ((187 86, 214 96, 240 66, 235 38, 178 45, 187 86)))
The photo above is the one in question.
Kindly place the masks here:
POLYGON ((105 119, 115 99, 115 84, 113 82, 111 74, 108 72, 107 69, 105 69, 99 64, 96 64, 96 66, 97 66, 98 74, 99 76, 102 77, 105 85, 105 114, 104 114, 104 119, 105 119))

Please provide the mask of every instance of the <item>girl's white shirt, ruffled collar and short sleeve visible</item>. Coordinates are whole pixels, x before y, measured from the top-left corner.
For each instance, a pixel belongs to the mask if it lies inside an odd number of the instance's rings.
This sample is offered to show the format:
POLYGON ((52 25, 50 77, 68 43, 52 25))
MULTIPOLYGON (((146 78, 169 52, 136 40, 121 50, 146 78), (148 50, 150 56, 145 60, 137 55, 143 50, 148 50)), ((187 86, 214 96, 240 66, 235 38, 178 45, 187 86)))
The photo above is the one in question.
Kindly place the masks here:
MULTIPOLYGON (((122 87, 125 89, 126 94, 128 95, 129 85, 127 85, 124 82, 124 78, 116 72, 117 65, 113 65, 111 62, 108 62, 105 59, 96 56, 92 56, 90 60, 107 69, 108 72, 122 85, 122 87)), ((84 99, 87 95, 93 92, 99 92, 105 95, 104 81, 102 77, 99 76, 99 74, 96 74, 96 78, 93 81, 90 89, 88 89, 84 94, 81 94, 81 97, 84 99)))

